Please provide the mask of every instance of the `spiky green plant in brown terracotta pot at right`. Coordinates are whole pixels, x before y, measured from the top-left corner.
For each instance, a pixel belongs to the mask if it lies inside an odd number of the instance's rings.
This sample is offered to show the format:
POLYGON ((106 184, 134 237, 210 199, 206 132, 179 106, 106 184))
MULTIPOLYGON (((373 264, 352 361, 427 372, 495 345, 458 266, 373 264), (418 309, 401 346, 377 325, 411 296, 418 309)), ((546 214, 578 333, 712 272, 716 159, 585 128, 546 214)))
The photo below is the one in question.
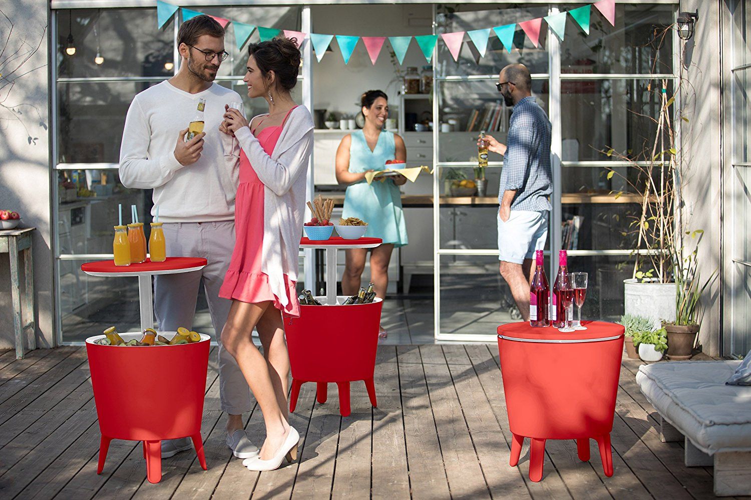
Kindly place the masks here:
MULTIPOLYGON (((687 235, 689 233, 686 233, 687 235)), ((697 229, 690 233, 696 239, 694 250, 688 256, 673 256, 675 262, 675 319, 662 322, 668 333, 668 358, 683 360, 691 358, 699 333, 699 299, 707 286, 716 277, 716 271, 704 283, 697 270, 698 244, 704 231, 697 229)))

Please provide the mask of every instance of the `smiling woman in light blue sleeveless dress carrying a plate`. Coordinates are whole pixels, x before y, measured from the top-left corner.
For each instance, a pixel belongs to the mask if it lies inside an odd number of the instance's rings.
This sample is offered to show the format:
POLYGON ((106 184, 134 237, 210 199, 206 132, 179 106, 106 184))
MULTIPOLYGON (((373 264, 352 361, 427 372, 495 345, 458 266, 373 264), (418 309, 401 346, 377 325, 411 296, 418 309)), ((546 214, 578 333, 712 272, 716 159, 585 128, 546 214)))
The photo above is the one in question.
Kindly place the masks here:
MULTIPOLYGON (((399 187, 407 178, 399 175, 365 181, 366 172, 386 169, 387 160, 406 161, 404 140, 396 133, 384 130, 388 118, 388 97, 379 90, 369 90, 360 97, 365 126, 344 136, 336 150, 336 181, 348 184, 342 217, 358 217, 368 223, 366 236, 381 238, 383 244, 370 254, 370 276, 375 295, 384 298, 388 286, 388 262, 394 247, 407 244, 407 228, 402 211, 399 187)), ((402 163, 403 165, 404 163, 402 163)), ((365 268, 366 249, 347 250, 342 277, 342 293, 355 295, 360 289, 360 276, 365 268)), ((380 337, 386 337, 380 328, 380 337)))

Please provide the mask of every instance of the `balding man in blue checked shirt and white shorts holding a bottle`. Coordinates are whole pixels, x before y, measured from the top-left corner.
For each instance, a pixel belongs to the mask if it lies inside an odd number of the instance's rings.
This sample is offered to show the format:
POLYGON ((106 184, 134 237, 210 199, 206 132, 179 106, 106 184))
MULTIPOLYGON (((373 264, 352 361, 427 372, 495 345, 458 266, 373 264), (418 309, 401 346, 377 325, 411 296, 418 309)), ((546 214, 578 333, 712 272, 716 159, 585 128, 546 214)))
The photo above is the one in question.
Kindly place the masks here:
MULTIPOLYGON (((506 106, 513 106, 507 144, 485 136, 488 151, 502 154, 498 191, 498 258, 501 275, 529 321, 529 286, 535 274, 535 250, 547 239, 552 174, 550 120, 532 97, 532 76, 523 64, 509 64, 496 88, 506 106)), ((478 141, 479 144, 479 141, 478 141)))

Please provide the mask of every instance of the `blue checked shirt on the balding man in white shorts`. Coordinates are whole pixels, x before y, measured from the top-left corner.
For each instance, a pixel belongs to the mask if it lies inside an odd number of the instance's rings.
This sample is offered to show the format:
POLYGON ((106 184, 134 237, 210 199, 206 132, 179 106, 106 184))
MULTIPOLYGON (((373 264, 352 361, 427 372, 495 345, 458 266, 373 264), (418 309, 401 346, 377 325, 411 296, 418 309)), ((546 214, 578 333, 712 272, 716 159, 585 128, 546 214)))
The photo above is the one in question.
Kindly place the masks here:
POLYGON ((550 120, 534 97, 514 105, 506 147, 498 203, 505 190, 517 190, 511 210, 550 210, 550 120))

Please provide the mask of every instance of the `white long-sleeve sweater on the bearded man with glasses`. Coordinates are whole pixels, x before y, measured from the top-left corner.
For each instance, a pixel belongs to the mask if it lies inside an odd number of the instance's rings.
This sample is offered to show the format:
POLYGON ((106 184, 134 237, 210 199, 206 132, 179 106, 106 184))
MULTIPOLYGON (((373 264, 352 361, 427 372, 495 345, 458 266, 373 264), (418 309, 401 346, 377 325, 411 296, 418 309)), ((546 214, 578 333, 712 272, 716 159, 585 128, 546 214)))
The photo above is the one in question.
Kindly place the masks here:
POLYGON ((225 104, 233 101, 242 99, 216 83, 190 94, 168 81, 134 97, 122 133, 120 181, 125 187, 153 188, 161 222, 234 220, 237 141, 219 132, 225 104), (197 162, 182 166, 174 155, 177 136, 188 128, 200 98, 206 99, 204 151, 197 162))

